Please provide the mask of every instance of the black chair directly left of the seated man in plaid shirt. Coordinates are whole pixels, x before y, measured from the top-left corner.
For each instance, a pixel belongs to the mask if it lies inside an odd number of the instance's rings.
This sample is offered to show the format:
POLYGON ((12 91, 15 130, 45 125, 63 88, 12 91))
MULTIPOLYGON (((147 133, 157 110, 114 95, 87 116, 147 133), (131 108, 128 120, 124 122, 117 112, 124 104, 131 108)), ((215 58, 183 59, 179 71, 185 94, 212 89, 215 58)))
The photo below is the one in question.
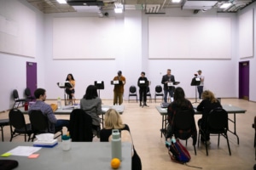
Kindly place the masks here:
POLYGON ((31 140, 32 128, 30 123, 26 123, 23 113, 18 109, 12 109, 9 111, 9 127, 11 142, 16 136, 24 135, 25 142, 31 140), (28 139, 26 140, 26 135, 28 139))

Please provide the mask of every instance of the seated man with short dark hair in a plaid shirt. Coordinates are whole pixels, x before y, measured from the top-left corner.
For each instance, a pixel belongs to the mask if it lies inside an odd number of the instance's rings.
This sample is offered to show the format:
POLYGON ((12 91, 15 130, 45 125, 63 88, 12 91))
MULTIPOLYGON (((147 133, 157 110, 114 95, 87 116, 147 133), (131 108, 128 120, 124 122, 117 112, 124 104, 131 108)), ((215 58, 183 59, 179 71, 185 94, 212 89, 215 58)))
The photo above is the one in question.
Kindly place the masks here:
MULTIPOLYGON (((37 100, 31 107, 29 107, 28 115, 30 115, 31 112, 35 110, 42 111, 44 116, 47 116, 49 121, 49 133, 54 133, 55 128, 57 127, 67 127, 67 131, 69 131, 69 120, 56 119, 50 105, 44 102, 47 97, 46 90, 44 88, 38 88, 35 90, 34 96, 37 100)), ((47 132, 47 129, 45 129, 45 132, 47 132)))

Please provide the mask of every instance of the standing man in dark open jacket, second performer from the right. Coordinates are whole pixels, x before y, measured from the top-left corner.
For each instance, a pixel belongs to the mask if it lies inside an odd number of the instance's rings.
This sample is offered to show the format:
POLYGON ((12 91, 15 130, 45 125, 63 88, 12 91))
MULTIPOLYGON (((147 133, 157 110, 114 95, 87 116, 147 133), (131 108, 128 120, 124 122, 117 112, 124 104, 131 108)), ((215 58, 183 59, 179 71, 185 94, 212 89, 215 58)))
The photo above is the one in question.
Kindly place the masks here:
POLYGON ((174 86, 173 83, 175 82, 175 77, 171 74, 171 69, 167 70, 167 74, 162 77, 162 84, 164 84, 164 101, 167 103, 167 95, 171 96, 171 99, 173 98, 173 90, 174 86))

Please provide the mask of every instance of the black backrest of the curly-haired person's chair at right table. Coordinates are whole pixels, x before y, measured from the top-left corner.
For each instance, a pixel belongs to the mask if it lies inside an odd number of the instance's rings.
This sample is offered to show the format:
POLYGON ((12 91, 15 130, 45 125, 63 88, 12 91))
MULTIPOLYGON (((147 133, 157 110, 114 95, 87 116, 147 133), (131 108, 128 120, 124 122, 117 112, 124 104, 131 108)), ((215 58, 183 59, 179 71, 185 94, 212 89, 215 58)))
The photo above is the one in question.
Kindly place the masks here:
POLYGON ((228 113, 222 108, 216 108, 207 115, 207 130, 210 132, 223 132, 228 130, 228 113))

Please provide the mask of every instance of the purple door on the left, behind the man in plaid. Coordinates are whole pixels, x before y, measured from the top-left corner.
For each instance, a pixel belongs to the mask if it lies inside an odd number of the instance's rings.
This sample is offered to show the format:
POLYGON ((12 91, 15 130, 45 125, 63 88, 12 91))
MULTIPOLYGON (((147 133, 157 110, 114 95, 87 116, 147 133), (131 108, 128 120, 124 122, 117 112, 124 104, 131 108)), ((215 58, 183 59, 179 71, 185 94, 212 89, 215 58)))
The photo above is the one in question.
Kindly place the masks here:
POLYGON ((26 88, 30 88, 32 96, 38 88, 37 63, 26 62, 26 88))

